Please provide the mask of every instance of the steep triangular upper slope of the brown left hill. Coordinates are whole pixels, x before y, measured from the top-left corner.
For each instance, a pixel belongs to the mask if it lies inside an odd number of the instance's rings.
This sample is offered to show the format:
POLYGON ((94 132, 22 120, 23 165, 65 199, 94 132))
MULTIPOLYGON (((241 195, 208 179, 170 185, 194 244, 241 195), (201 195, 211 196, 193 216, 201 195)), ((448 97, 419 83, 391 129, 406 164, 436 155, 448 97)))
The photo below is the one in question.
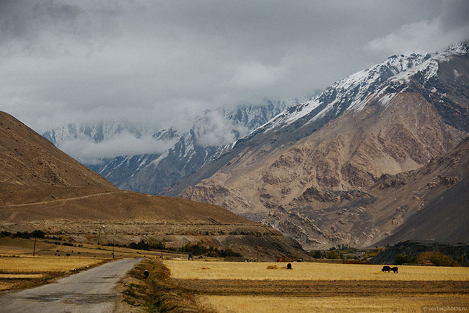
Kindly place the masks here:
POLYGON ((13 116, 0 112, 1 183, 116 189, 13 116))

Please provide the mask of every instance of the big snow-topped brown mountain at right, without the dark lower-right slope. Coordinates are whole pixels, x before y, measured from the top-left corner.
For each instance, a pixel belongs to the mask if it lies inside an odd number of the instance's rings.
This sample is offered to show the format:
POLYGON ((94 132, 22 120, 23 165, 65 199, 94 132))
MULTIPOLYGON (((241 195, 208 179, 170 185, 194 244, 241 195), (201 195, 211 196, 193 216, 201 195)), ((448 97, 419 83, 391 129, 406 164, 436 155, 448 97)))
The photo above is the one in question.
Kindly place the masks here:
MULTIPOLYGON (((379 179, 419 169, 468 136, 468 50, 459 43, 393 55, 344 78, 237 141, 168 194, 268 223, 307 249, 376 244, 412 219, 414 211, 402 207, 428 204, 417 193, 420 200, 393 206, 384 200, 391 195, 376 189, 379 179)), ((451 238, 467 231, 459 233, 451 238)))

